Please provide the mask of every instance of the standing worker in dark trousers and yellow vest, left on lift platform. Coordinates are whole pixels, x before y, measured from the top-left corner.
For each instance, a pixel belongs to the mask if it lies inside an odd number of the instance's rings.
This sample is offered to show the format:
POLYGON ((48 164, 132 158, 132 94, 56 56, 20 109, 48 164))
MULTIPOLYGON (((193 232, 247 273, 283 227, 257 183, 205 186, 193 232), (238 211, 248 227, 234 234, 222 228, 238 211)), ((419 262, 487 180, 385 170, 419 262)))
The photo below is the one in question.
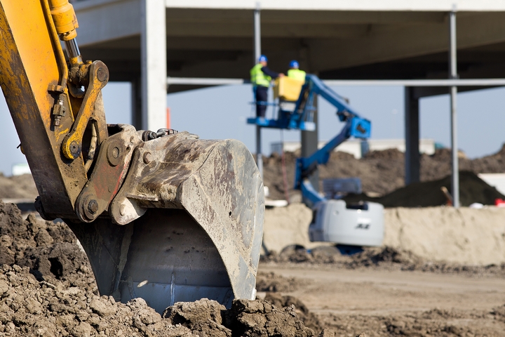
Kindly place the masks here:
POLYGON ((256 117, 265 117, 267 112, 268 102, 268 88, 271 79, 283 77, 284 74, 272 72, 267 67, 267 56, 261 55, 258 59, 257 65, 250 70, 251 83, 253 84, 253 91, 255 92, 256 99, 256 117))

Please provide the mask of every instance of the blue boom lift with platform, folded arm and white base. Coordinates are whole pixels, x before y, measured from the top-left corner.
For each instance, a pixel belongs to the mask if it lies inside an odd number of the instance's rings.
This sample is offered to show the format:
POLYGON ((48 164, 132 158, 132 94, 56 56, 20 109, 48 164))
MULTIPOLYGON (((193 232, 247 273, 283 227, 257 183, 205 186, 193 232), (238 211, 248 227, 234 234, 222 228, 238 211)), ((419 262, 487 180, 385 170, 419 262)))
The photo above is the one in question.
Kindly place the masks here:
POLYGON ((326 86, 316 75, 308 74, 296 103, 280 102, 277 119, 248 119, 249 124, 267 128, 286 128, 312 131, 314 99, 321 95, 337 108, 337 116, 345 122, 342 131, 310 157, 297 158, 295 189, 302 191, 304 203, 313 210, 309 226, 311 241, 335 242, 349 246, 379 246, 384 237, 384 208, 381 204, 365 201, 347 205, 345 201, 327 199, 319 194, 309 177, 320 164, 327 164, 330 153, 350 137, 369 138, 371 124, 346 103, 346 100, 326 86), (293 107, 294 106, 294 107, 293 107))

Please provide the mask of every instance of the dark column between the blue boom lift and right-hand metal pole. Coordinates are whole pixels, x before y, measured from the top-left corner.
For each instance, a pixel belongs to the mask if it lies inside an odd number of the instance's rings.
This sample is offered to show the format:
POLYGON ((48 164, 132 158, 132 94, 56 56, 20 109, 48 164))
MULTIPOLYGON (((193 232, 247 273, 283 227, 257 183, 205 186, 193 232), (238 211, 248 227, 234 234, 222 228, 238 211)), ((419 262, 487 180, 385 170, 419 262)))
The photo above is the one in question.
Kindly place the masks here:
POLYGON ((419 98, 405 87, 405 185, 419 182, 419 98))

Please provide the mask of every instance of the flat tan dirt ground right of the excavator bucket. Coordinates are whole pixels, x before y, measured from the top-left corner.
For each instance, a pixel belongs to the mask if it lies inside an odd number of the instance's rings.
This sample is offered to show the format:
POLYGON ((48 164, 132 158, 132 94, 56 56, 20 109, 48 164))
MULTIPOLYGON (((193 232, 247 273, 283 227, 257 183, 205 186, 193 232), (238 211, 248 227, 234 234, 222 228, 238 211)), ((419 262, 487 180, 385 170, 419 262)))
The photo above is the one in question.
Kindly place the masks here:
MULTIPOLYGON (((333 265, 262 264, 289 279, 324 336, 505 336, 505 278, 333 265)), ((266 282, 266 281, 264 281, 266 282)), ((261 295, 264 295, 262 293, 261 295)))

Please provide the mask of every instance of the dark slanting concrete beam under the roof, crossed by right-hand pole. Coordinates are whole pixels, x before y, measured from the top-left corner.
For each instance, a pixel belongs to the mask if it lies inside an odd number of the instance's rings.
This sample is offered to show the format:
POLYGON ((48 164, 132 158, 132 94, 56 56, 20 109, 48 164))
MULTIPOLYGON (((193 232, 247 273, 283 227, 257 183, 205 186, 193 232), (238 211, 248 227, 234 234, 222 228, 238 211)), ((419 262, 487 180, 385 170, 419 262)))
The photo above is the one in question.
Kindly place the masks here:
MULTIPOLYGON (((458 48, 505 41, 505 13, 469 15, 458 20, 458 48)), ((448 50, 447 23, 431 25, 371 25, 359 39, 306 40, 319 71, 335 65, 353 67, 448 50)))

